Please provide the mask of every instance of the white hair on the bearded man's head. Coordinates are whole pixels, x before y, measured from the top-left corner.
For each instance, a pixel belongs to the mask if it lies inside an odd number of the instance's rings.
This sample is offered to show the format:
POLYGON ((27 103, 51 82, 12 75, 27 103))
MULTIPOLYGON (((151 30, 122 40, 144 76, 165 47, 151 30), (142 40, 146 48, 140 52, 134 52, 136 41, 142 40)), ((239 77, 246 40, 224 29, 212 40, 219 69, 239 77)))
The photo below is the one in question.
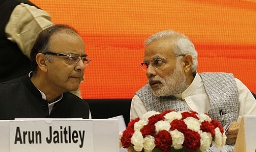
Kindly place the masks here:
POLYGON ((144 47, 152 44, 154 41, 157 41, 159 39, 169 39, 170 44, 173 44, 174 46, 171 51, 173 51, 173 53, 177 56, 190 54, 193 59, 191 71, 193 73, 196 72, 198 64, 198 53, 195 49, 194 44, 189 40, 186 35, 172 30, 161 31, 148 37, 144 42, 144 47))

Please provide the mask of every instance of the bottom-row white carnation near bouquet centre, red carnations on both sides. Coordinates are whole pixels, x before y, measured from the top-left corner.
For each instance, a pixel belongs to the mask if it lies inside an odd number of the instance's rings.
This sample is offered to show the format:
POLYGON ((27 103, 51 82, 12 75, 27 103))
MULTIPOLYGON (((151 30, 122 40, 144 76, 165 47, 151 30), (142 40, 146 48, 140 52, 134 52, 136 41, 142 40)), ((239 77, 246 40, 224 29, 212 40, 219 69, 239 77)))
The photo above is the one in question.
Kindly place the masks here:
POLYGON ((174 147, 175 149, 181 149, 182 144, 184 142, 183 133, 175 129, 174 131, 170 131, 170 135, 172 135, 172 139, 173 139, 172 147, 174 147))

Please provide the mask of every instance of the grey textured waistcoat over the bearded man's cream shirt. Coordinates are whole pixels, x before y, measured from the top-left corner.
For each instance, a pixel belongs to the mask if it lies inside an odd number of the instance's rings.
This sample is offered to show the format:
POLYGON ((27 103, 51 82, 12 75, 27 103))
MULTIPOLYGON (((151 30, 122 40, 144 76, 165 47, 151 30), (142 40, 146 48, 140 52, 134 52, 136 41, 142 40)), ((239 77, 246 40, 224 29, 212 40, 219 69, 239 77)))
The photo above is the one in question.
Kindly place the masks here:
MULTIPOLYGON (((208 115, 221 122, 223 126, 228 122, 237 121, 239 100, 237 83, 233 75, 230 73, 200 73, 199 75, 210 100, 208 115), (220 116, 220 110, 223 113, 223 120, 220 116)), ((148 84, 144 85, 136 94, 144 103, 147 111, 189 110, 189 107, 184 102, 174 96, 154 96, 148 84)))

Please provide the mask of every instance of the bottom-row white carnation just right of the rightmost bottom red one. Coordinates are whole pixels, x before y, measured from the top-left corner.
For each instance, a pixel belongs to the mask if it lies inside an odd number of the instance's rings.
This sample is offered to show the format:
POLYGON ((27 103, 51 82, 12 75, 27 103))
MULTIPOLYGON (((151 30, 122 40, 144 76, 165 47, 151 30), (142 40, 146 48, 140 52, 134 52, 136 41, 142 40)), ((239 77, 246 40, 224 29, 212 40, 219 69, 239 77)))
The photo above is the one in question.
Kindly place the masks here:
POLYGON ((200 150, 206 151, 210 147, 212 141, 211 134, 206 132, 200 132, 200 137, 200 150))

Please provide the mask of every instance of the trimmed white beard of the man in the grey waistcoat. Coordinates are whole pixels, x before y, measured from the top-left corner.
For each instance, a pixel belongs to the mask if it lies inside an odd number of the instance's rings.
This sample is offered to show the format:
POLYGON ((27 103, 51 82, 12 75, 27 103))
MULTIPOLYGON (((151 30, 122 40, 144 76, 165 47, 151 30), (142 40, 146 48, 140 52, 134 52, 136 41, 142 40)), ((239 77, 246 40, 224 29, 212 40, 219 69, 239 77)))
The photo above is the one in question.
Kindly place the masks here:
POLYGON ((186 83, 186 76, 182 73, 182 68, 179 62, 177 62, 174 72, 168 75, 166 79, 154 78, 154 80, 158 80, 162 83, 158 88, 154 90, 152 89, 153 94, 157 97, 182 93, 189 86, 186 83))

